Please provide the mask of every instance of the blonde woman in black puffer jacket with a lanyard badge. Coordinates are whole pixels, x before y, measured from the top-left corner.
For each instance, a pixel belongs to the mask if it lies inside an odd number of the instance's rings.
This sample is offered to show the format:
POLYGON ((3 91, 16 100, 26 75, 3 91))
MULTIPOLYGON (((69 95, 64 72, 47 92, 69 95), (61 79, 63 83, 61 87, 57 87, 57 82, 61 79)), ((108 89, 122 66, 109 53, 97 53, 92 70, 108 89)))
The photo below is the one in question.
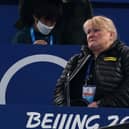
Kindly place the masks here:
POLYGON ((113 21, 94 16, 84 25, 88 45, 58 79, 54 103, 64 106, 129 107, 129 47, 113 21))

